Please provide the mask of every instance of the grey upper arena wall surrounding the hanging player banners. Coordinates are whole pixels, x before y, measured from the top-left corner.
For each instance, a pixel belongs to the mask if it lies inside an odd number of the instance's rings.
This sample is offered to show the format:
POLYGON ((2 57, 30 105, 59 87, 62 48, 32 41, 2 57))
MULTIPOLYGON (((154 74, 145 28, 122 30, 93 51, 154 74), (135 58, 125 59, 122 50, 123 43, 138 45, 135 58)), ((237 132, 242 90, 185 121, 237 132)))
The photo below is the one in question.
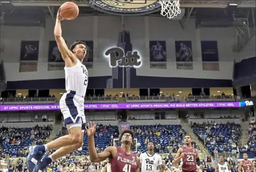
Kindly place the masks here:
MULTIPOLYGON (((255 56, 255 37, 241 53, 233 53, 236 30, 229 28, 199 28, 195 20, 188 21, 183 30, 179 21, 156 17, 125 18, 125 28, 130 32, 133 50, 140 51, 143 65, 137 76, 180 78, 232 79, 233 60, 255 56), (167 34, 166 34, 167 33, 167 34), (254 42, 253 42, 254 40, 254 42), (149 41, 166 41, 167 69, 150 68, 149 41), (175 41, 192 41, 193 70, 176 70, 175 41), (203 71, 201 41, 218 41, 219 71, 203 71), (163 72, 164 71, 164 72, 163 72), (182 71, 182 72, 181 72, 182 71)), ((104 50, 116 46, 121 31, 119 16, 84 16, 62 24, 63 37, 68 45, 76 40, 93 41, 93 68, 90 77, 111 76, 112 68, 104 50)), ((54 41, 54 22, 46 19, 46 27, 1 26, 7 81, 64 78, 63 71, 48 71, 49 41, 54 41), (19 72, 21 41, 40 41, 36 72, 19 72)))

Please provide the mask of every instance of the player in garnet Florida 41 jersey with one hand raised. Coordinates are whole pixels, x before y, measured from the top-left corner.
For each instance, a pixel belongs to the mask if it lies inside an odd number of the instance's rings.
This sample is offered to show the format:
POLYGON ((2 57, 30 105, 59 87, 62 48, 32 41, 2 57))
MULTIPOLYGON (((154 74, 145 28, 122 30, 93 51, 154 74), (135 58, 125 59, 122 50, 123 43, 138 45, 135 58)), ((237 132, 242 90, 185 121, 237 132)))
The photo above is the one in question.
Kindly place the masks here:
MULTIPOLYGON (((140 158, 131 151, 134 134, 131 130, 124 130, 119 138, 120 147, 109 146, 101 153, 97 153, 94 144, 94 133, 96 125, 88 124, 86 133, 88 135, 89 156, 91 162, 102 162, 109 158, 112 172, 140 172, 140 158)), ((108 172, 111 172, 108 171, 108 172)))

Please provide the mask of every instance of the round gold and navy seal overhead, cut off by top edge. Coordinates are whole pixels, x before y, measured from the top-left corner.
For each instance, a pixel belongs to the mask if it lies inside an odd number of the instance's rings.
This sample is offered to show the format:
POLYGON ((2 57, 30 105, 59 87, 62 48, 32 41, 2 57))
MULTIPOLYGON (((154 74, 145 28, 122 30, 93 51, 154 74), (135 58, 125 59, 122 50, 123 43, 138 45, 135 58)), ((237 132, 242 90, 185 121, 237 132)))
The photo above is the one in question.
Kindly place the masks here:
POLYGON ((161 5, 156 0, 90 0, 84 1, 96 10, 114 15, 143 15, 157 12, 161 5))

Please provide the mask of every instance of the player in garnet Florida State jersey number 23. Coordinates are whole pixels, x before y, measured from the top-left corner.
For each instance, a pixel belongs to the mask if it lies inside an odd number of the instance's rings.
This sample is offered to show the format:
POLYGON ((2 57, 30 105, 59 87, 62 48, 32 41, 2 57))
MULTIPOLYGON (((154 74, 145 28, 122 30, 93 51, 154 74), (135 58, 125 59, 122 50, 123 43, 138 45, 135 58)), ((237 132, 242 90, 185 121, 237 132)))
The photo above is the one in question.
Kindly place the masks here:
POLYGON ((199 159, 199 153, 198 150, 191 145, 191 137, 186 135, 184 138, 184 141, 186 142, 185 146, 182 146, 177 151, 177 154, 172 161, 172 164, 177 164, 182 159, 182 171, 193 171, 197 172, 197 165, 203 169, 203 165, 199 159))

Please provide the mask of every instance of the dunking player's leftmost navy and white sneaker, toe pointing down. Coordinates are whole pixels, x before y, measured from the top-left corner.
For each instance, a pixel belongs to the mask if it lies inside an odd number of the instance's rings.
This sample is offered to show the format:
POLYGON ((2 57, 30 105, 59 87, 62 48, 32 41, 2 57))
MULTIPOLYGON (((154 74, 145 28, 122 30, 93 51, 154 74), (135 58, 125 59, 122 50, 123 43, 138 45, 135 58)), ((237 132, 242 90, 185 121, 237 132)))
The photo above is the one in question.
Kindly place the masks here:
POLYGON ((32 172, 37 165, 37 162, 42 158, 44 152, 38 150, 39 146, 30 146, 27 154, 26 164, 29 172, 32 172))

